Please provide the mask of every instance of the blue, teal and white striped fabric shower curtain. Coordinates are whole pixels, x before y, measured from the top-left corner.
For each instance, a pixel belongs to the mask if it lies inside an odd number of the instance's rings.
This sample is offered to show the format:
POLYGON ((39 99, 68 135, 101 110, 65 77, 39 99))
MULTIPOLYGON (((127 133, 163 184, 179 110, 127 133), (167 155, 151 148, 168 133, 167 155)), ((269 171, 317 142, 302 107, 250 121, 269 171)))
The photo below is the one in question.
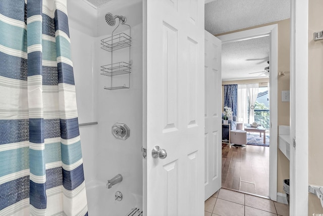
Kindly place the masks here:
POLYGON ((0 1, 0 215, 87 215, 66 4, 0 1))

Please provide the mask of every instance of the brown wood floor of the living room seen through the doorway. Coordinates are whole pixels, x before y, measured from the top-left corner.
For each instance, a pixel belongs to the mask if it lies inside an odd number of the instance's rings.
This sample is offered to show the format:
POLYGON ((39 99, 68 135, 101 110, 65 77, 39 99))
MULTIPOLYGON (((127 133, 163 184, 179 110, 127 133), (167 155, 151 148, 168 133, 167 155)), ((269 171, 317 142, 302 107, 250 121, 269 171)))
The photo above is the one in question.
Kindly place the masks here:
POLYGON ((269 147, 222 144, 222 187, 269 196, 269 147))

